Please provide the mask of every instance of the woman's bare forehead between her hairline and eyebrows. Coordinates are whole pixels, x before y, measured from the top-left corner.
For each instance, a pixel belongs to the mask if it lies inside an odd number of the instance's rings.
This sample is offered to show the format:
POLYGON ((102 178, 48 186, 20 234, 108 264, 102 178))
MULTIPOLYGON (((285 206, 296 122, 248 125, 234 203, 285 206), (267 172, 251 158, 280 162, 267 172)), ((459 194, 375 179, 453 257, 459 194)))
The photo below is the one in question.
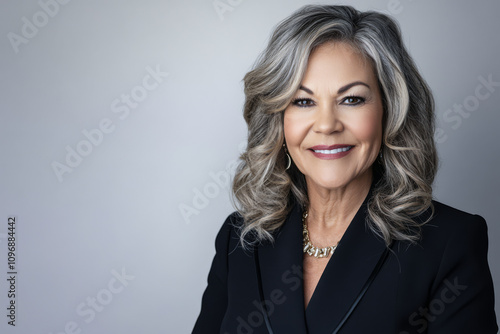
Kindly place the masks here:
POLYGON ((311 52, 302 84, 342 86, 356 80, 376 82, 369 59, 347 43, 327 42, 311 52))

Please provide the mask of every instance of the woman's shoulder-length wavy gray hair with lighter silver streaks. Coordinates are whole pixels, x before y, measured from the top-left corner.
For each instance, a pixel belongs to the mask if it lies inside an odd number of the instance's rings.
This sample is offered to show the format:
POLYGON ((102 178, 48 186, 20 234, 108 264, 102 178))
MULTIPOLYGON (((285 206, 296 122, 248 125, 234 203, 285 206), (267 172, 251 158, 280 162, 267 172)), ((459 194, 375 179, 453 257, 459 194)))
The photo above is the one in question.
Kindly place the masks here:
POLYGON ((384 105, 381 174, 368 203, 369 226, 390 244, 415 242, 432 207, 437 170, 434 101, 387 15, 350 6, 308 5, 282 21, 244 77, 248 144, 233 180, 233 199, 244 218, 243 245, 273 240, 294 202, 308 205, 304 175, 286 170, 283 114, 297 91, 311 52, 329 41, 347 43, 371 62, 384 105), (253 236, 253 238, 246 238, 253 236), (253 241, 249 241, 253 240, 253 241))

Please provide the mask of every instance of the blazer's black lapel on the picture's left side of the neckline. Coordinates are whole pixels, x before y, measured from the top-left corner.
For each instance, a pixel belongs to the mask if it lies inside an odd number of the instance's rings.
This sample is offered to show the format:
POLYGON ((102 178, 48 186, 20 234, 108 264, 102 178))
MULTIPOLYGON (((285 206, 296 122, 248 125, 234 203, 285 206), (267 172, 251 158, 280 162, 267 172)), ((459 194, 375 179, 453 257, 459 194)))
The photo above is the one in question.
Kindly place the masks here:
POLYGON ((262 290, 274 333, 307 333, 302 284, 302 210, 295 205, 273 244, 258 250, 262 290))

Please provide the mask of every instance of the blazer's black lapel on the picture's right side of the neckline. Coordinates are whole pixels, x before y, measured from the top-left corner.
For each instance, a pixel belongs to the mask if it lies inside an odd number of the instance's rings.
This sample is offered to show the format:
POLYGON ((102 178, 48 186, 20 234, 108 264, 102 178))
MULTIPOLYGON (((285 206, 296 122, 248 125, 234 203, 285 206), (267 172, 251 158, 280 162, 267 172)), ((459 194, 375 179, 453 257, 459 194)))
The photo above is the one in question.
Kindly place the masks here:
POLYGON ((331 333, 384 253, 384 241, 366 226, 365 198, 335 250, 306 309, 309 333, 331 333))

